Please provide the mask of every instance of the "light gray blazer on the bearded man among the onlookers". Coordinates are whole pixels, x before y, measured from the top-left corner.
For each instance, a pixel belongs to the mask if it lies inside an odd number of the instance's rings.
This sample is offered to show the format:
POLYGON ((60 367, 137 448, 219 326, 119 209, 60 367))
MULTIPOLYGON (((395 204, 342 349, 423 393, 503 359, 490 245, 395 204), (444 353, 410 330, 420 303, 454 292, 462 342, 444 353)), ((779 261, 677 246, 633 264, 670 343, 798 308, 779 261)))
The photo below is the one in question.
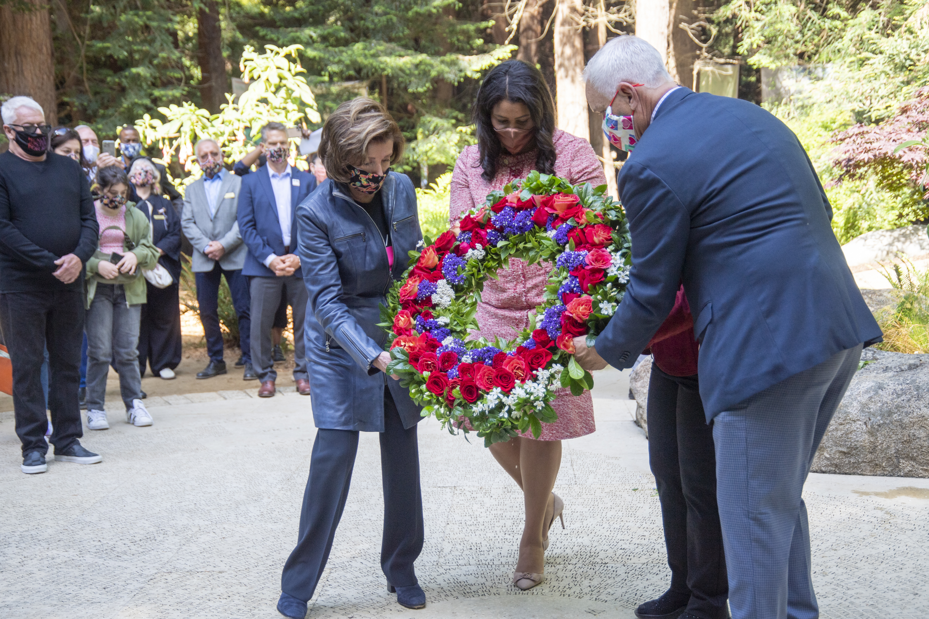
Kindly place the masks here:
POLYGON ((241 176, 226 174, 222 186, 219 187, 219 205, 213 217, 210 217, 210 207, 206 201, 203 176, 187 187, 184 194, 184 210, 180 216, 180 227, 193 246, 191 268, 194 273, 213 270, 216 261, 207 258, 203 253, 203 248, 211 240, 218 240, 226 248, 226 253, 219 259, 219 265, 224 270, 238 270, 245 264, 245 254, 248 253, 248 248, 242 243, 239 222, 236 219, 241 187, 241 176))

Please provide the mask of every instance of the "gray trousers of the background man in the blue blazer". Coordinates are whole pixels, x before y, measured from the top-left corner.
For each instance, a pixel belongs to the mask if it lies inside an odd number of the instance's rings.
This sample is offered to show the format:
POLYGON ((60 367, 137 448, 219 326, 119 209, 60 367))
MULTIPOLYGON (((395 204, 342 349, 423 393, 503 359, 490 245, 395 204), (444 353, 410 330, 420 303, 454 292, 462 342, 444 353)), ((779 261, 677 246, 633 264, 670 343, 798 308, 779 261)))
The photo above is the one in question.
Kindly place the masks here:
POLYGON ((307 314, 307 287, 303 278, 294 275, 287 277, 251 277, 252 293, 252 365, 258 380, 277 380, 272 356, 274 344, 271 343, 271 327, 274 326, 274 314, 281 303, 281 295, 286 295, 294 313, 294 380, 307 380, 307 355, 303 342, 303 320, 307 314))

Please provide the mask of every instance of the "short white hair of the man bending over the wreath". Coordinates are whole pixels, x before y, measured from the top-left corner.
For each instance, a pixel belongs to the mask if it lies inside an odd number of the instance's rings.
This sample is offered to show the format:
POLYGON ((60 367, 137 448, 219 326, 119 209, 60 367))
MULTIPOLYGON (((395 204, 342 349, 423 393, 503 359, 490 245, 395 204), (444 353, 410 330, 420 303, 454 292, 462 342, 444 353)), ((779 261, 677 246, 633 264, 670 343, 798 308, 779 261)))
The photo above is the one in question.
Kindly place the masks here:
POLYGON ((601 47, 584 67, 583 79, 605 97, 612 97, 621 82, 656 88, 673 81, 658 50, 632 34, 610 39, 601 47))

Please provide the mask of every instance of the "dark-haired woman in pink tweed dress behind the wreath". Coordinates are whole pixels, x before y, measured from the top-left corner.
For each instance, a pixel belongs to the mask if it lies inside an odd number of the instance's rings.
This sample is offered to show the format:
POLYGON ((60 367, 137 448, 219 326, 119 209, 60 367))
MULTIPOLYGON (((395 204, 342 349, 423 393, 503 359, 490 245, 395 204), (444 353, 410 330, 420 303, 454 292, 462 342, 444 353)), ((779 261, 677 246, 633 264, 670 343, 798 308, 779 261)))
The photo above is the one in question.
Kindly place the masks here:
MULTIPOLYGON (((494 189, 524 178, 532 170, 556 174, 571 184, 606 184, 603 166, 590 144, 555 128, 555 106, 542 73, 519 60, 508 60, 491 70, 475 102, 478 145, 464 148, 451 175, 451 222, 482 204, 494 189)), ((510 259, 509 270, 489 279, 478 304, 480 331, 513 340, 529 326, 529 313, 543 303, 550 264, 526 264, 510 259)), ((530 432, 506 443, 491 445, 491 454, 523 490, 526 522, 519 542, 519 561, 513 575, 521 589, 543 580, 548 530, 561 516, 564 503, 552 489, 561 465, 561 440, 594 432, 594 405, 589 392, 579 397, 558 390, 552 403, 558 419, 543 423, 535 440, 530 432)), ((562 520, 562 526, 564 521, 562 520)))

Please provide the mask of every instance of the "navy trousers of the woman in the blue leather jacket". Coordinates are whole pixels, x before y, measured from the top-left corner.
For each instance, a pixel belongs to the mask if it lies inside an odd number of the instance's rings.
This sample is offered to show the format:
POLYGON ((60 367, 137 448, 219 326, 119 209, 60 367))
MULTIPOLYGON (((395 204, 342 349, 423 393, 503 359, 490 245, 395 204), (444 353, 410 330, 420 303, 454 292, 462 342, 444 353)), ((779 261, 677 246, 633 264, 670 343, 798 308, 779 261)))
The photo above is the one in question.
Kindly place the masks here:
MULTIPOLYGON (((309 464, 307 490, 300 512, 296 548, 284 563, 281 591, 297 600, 313 597, 333 548, 335 529, 346 507, 348 486, 358 452, 359 432, 324 430, 316 433, 309 464)), ((384 390, 384 432, 381 432, 381 478, 384 484, 384 537, 381 569, 395 587, 417 583, 413 561, 423 549, 423 496, 419 480, 416 426, 403 429, 397 406, 384 390)))

